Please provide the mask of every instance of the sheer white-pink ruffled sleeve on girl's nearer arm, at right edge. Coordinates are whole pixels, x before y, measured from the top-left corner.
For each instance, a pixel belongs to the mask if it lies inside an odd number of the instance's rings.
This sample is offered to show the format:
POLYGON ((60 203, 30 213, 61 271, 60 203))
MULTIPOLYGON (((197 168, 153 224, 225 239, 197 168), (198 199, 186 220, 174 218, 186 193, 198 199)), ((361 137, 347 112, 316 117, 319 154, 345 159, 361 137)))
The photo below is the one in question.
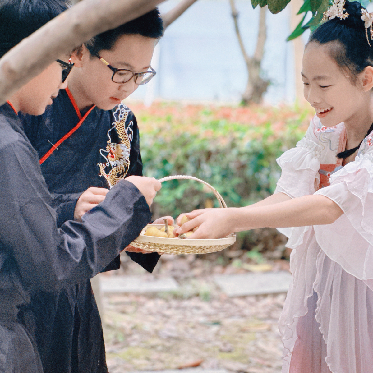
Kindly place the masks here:
POLYGON ((373 151, 356 157, 315 194, 330 198, 344 214, 329 225, 316 225, 325 254, 361 280, 373 279, 373 151))

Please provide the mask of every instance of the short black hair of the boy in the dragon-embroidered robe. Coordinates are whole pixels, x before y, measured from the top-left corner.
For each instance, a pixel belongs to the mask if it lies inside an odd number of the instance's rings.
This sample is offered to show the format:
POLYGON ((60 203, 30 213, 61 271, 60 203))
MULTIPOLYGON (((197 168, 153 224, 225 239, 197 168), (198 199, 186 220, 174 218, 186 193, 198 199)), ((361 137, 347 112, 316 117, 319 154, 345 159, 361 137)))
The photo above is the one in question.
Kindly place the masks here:
POLYGON ((133 19, 112 30, 98 34, 84 45, 95 56, 101 50, 110 50, 122 35, 142 35, 159 39, 163 35, 163 21, 159 10, 153 9, 141 17, 133 19))

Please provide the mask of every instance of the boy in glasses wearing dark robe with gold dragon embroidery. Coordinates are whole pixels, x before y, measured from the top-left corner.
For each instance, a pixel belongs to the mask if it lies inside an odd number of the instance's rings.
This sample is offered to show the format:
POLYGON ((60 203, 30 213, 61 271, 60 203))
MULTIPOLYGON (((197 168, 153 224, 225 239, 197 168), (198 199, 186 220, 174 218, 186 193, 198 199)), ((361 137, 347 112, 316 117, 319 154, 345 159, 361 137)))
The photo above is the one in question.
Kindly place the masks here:
MULTIPOLYGON (((154 45, 162 33, 162 19, 159 12, 154 10, 98 35, 87 45, 90 50, 97 47, 99 52, 105 48, 118 50, 120 47, 114 58, 119 59, 125 67, 125 62, 138 59, 142 68, 149 65, 154 45), (124 43, 128 41, 126 38, 132 41, 134 35, 140 38, 135 40, 137 43, 143 42, 144 48, 151 50, 146 54, 148 60, 143 56, 132 56, 131 45, 120 44, 122 40, 117 43, 121 38, 125 39, 124 43)), ((97 57, 91 57, 86 46, 78 48, 72 59, 80 61, 75 64, 78 69, 74 67, 79 77, 74 77, 74 69, 69 76, 71 91, 69 88, 61 90, 43 115, 23 116, 23 125, 38 152, 50 192, 62 194, 61 202, 73 205, 89 187, 112 188, 129 175, 142 176, 142 162, 134 114, 122 103, 115 106, 115 101, 109 97, 107 102, 103 102, 108 85, 119 90, 114 93, 110 91, 110 94, 120 99, 132 93, 138 85, 126 86, 120 91, 121 85, 110 79, 113 71, 97 57), (103 68, 101 75, 104 81, 100 82, 91 66, 89 69, 82 66, 81 60, 88 60, 89 64, 92 58, 97 60, 99 69, 103 68), (95 75, 94 81, 90 80, 90 73, 95 75), (73 90, 74 83, 79 88, 86 87, 90 92, 85 96, 93 100, 88 103, 82 100, 82 94, 73 90), (97 86, 99 90, 95 90, 97 86), (98 92, 96 96, 94 92, 98 92)), ((61 223, 71 219, 70 216, 63 216, 63 213, 60 218, 61 223)), ((149 272, 152 272, 159 258, 157 253, 128 254, 149 272)), ((118 269, 119 265, 120 258, 117 257, 106 270, 118 269)), ((53 294, 37 292, 30 305, 23 309, 23 317, 28 319, 29 329, 35 330, 41 360, 48 372, 107 372, 101 319, 89 281, 53 294), (43 307, 40 307, 41 304, 43 307)))

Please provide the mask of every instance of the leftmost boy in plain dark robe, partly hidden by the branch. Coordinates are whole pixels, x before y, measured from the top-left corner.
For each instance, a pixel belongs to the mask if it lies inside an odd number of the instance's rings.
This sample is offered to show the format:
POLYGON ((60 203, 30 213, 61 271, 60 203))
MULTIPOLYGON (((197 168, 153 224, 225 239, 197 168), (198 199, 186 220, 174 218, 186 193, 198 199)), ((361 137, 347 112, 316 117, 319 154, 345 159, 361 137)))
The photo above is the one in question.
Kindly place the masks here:
MULTIPOLYGON (((1 55, 66 5, 63 0, 1 1, 1 55), (35 14, 40 4, 42 15, 35 14)), ((155 179, 130 176, 117 182, 81 222, 57 227, 52 206, 60 198, 48 192, 18 112, 43 113, 59 88, 66 87, 61 83, 66 66, 54 62, 0 107, 0 372, 47 372, 34 330, 25 326, 19 310, 35 292, 76 286, 103 271, 150 221, 149 205, 160 188, 155 179)))

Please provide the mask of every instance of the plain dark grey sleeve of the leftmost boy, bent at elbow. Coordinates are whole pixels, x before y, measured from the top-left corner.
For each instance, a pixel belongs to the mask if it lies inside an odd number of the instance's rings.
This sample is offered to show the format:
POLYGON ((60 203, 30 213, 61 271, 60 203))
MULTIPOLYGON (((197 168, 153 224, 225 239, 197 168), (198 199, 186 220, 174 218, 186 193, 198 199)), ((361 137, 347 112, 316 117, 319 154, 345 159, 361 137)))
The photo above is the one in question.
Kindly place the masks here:
POLYGON ((92 278, 150 222, 144 196, 123 180, 81 223, 58 229, 35 150, 18 132, 6 136, 0 142, 0 251, 15 258, 26 283, 50 291, 92 278))

